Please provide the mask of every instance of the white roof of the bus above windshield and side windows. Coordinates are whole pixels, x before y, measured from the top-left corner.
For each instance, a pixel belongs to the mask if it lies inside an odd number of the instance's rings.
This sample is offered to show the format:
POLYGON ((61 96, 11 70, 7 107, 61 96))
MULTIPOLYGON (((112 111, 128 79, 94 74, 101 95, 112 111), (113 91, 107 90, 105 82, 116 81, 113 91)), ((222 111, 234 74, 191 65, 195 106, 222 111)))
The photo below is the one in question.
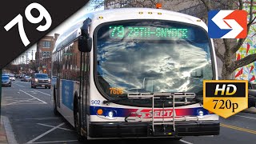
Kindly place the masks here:
POLYGON ((170 10, 153 9, 153 8, 120 8, 111 10, 100 10, 85 14, 73 26, 69 26, 67 30, 58 37, 54 51, 60 49, 62 46, 66 46, 74 39, 78 38, 81 34, 80 28, 83 25, 84 20, 90 18, 92 20, 91 26, 96 27, 104 22, 114 22, 131 19, 155 19, 155 20, 169 20, 176 22, 185 22, 198 26, 202 26, 207 30, 205 22, 201 19, 188 14, 182 14, 170 10))

